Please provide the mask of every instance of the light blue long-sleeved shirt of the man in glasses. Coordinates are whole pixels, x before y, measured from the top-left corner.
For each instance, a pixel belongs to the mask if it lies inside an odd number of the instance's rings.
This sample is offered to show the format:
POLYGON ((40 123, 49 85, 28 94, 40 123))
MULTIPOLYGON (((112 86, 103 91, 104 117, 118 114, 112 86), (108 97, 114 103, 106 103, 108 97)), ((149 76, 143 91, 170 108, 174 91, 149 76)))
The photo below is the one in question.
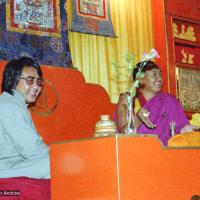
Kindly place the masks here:
POLYGON ((37 133, 24 95, 0 96, 0 178, 50 178, 49 149, 37 133))

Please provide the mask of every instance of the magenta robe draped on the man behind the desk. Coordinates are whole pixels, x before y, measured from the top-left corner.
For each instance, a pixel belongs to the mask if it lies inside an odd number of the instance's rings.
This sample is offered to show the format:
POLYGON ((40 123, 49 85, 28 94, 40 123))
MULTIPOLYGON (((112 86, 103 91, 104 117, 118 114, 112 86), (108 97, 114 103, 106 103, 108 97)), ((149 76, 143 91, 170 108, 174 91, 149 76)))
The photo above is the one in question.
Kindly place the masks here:
POLYGON ((156 125, 155 129, 149 129, 144 124, 138 128, 139 134, 158 135, 164 145, 171 137, 170 122, 175 122, 175 134, 180 133, 181 128, 188 125, 188 119, 179 101, 172 95, 159 92, 143 106, 150 112, 150 120, 156 125))

